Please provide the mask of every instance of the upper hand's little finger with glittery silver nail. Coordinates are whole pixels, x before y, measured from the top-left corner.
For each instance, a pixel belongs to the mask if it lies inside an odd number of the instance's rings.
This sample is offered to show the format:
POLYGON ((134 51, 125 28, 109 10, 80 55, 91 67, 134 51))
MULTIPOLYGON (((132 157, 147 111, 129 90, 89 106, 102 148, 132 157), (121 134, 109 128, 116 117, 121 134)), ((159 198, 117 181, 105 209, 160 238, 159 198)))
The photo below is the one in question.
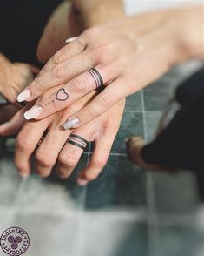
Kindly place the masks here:
POLYGON ((109 84, 104 91, 98 94, 89 104, 85 105, 82 110, 69 118, 63 125, 64 129, 69 130, 82 126, 109 111, 114 104, 130 94, 130 85, 125 83, 126 79, 121 77, 109 84))

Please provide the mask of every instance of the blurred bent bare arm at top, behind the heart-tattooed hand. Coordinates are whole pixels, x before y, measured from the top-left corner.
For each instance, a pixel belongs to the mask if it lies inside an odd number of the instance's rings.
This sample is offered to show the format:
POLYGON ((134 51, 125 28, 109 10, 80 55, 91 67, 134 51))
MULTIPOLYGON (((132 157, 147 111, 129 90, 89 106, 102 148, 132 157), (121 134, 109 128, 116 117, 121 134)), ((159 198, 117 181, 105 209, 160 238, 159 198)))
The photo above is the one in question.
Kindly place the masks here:
POLYGON ((82 30, 123 16, 121 0, 72 0, 61 3, 49 18, 37 47, 37 57, 46 63, 68 37, 82 30))

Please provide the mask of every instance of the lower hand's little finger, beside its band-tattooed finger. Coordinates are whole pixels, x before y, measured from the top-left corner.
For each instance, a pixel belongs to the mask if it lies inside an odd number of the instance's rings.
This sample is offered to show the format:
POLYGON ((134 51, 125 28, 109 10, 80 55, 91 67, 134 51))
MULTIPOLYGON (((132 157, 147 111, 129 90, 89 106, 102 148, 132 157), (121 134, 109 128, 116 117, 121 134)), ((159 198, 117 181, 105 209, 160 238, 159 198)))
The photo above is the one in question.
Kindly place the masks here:
POLYGON ((98 177, 109 159, 109 152, 115 140, 117 130, 107 129, 101 137, 95 138, 95 148, 89 165, 80 173, 77 178, 78 185, 87 185, 98 177))

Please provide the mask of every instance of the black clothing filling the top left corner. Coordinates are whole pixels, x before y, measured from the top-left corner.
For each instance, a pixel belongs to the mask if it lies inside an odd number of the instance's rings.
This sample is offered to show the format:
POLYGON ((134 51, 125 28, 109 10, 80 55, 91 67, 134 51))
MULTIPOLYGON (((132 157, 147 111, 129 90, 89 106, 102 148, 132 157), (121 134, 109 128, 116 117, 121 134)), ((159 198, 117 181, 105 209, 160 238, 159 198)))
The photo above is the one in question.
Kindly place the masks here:
POLYGON ((0 51, 10 61, 39 64, 37 44, 59 3, 62 0, 1 0, 0 51))

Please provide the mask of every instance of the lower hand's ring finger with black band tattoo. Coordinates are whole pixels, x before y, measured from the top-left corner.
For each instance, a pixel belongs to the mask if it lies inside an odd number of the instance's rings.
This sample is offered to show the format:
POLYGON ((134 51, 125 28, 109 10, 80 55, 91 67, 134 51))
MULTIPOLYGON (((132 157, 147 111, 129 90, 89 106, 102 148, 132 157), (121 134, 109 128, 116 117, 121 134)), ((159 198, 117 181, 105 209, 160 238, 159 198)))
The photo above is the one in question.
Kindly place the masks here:
POLYGON ((84 127, 83 131, 76 130, 69 136, 58 158, 56 173, 60 178, 69 178, 75 169, 82 152, 89 144, 89 133, 90 131, 84 127))

